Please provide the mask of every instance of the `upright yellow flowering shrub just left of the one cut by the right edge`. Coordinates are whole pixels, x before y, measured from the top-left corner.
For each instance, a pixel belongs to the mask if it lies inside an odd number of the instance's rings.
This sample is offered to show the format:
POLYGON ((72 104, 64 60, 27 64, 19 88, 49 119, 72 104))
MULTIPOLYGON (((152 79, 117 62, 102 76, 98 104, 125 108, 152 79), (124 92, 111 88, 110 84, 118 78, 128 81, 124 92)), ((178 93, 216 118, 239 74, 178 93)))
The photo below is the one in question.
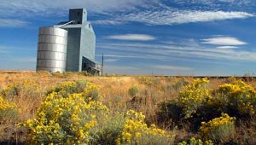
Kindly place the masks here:
POLYGON ((179 92, 178 104, 183 107, 185 119, 191 118, 199 107, 211 99, 211 90, 207 89, 208 83, 207 78, 197 78, 179 92))

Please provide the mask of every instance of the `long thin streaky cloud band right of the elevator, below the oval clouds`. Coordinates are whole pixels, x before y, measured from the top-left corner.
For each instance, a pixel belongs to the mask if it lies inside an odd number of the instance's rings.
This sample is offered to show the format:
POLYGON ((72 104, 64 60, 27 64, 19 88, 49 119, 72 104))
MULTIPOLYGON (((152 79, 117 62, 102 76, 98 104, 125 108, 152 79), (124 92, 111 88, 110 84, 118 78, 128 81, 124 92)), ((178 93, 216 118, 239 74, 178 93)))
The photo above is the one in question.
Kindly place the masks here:
MULTIPOLYGON (((170 45, 170 44, 97 44, 98 49, 108 49, 114 55, 112 58, 154 60, 154 61, 198 61, 203 60, 228 60, 228 61, 256 61, 256 52, 246 49, 215 49, 201 45, 170 45)), ((201 61, 199 61, 201 62, 201 61)), ((212 63, 214 61, 208 61, 212 63)))

